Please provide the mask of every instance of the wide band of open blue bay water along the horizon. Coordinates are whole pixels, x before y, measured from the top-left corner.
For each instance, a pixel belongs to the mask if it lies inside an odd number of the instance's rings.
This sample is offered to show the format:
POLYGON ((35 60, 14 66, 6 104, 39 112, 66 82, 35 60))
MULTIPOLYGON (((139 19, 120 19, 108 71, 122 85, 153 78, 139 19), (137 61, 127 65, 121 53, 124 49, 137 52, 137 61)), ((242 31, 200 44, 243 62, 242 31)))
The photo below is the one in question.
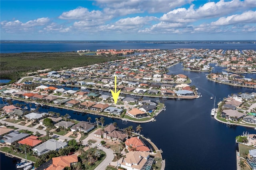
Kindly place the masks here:
POLYGON ((20 53, 20 52, 66 52, 77 51, 80 49, 177 49, 177 48, 196 48, 196 49, 255 49, 255 41, 232 41, 232 42, 174 42, 174 41, 10 41, 1 40, 1 53, 20 53))

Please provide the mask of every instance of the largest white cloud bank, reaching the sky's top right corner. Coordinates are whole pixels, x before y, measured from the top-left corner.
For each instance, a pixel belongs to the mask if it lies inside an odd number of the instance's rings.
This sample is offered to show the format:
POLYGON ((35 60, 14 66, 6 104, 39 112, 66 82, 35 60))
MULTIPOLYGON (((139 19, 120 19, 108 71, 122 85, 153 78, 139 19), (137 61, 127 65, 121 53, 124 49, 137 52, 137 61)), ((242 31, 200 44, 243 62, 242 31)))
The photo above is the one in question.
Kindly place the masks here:
POLYGON ((166 22, 194 22, 198 19, 215 18, 245 9, 255 8, 256 3, 252 1, 253 0, 220 0, 219 2, 207 2, 198 9, 194 9, 194 4, 192 4, 188 9, 178 8, 172 10, 160 17, 160 20, 166 22))

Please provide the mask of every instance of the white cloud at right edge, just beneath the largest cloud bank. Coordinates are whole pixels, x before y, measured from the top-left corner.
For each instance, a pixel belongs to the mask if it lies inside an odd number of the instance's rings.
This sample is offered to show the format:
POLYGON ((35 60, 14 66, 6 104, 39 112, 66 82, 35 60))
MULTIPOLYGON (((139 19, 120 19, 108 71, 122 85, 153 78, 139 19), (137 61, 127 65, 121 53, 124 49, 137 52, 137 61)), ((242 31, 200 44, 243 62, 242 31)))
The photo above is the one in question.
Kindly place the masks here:
POLYGON ((256 23, 256 11, 248 11, 242 14, 236 14, 228 17, 221 17, 212 26, 232 25, 241 23, 256 23))

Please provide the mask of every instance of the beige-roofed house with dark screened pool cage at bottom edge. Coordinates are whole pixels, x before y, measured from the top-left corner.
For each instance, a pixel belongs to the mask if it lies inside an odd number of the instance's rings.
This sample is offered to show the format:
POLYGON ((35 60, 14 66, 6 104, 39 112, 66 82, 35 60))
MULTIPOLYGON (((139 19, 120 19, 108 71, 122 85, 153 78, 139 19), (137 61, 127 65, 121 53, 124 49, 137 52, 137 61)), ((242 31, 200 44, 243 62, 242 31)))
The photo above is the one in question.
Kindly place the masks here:
POLYGON ((120 164, 127 170, 146 170, 151 169, 154 158, 151 158, 148 152, 130 151, 120 164))

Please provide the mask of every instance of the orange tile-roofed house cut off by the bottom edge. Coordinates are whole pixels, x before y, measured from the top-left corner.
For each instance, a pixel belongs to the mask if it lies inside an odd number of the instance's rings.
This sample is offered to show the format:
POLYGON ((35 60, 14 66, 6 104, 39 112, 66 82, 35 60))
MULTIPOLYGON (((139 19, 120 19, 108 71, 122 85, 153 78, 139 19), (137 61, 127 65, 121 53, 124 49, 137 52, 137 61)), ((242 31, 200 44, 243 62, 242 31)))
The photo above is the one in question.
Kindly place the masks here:
POLYGON ((59 156, 52 158, 52 164, 45 168, 45 170, 64 170, 66 167, 72 167, 78 162, 77 155, 59 156))

